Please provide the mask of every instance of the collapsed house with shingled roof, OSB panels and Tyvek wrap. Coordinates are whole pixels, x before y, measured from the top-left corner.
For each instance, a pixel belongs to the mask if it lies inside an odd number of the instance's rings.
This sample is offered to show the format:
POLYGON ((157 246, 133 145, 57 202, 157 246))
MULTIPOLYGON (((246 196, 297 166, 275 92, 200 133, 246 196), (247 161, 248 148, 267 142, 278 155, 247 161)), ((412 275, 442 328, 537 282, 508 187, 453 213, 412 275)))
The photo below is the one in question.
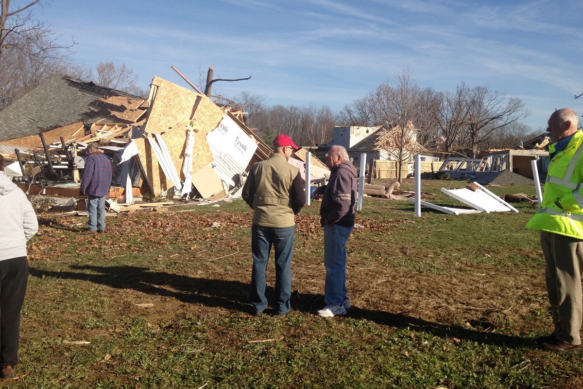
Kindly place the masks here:
POLYGON ((53 76, 0 111, 6 173, 32 193, 76 196, 79 156, 97 142, 115 165, 110 197, 234 194, 271 148, 240 111, 154 77, 148 99, 53 76))

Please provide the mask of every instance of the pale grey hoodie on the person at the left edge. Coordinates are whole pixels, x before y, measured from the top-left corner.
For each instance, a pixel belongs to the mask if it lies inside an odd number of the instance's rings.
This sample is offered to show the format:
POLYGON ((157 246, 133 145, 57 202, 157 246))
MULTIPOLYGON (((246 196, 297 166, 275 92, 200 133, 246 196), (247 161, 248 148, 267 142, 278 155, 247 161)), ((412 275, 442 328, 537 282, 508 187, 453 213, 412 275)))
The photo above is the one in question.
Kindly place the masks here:
POLYGON ((26 242, 37 231, 38 220, 29 199, 0 171, 0 261, 26 257, 26 242))

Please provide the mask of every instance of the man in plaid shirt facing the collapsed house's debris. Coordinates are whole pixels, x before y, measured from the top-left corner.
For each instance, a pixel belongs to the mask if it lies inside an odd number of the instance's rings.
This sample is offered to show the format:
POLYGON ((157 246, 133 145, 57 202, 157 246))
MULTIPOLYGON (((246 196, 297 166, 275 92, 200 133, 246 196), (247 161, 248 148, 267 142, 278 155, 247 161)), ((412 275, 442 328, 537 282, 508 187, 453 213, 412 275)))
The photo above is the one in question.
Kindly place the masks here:
POLYGON ((96 143, 89 143, 79 189, 80 195, 87 194, 89 222, 87 231, 83 232, 85 235, 104 232, 106 229, 106 196, 110 191, 112 174, 111 160, 99 150, 96 143))

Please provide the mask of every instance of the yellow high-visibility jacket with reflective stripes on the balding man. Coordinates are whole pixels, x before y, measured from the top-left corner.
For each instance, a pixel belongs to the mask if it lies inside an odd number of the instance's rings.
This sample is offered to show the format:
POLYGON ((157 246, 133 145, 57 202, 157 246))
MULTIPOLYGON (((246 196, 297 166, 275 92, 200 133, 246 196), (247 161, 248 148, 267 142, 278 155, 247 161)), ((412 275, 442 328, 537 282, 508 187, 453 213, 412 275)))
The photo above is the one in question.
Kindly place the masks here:
MULTIPOLYGON (((549 153, 556 144, 549 146, 549 153)), ((583 132, 577 131, 567 148, 550 161, 542 204, 526 228, 583 240, 582 153, 583 132)))

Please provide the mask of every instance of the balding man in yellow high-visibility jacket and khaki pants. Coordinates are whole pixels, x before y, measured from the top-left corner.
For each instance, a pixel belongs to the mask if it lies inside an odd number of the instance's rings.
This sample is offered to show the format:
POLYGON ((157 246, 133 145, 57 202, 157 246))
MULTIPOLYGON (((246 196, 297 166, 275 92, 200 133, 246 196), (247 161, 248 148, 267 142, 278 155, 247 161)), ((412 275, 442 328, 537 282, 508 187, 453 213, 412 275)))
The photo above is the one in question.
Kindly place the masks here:
POLYGON ((570 108, 550 115, 550 164, 542 204, 526 227, 540 230, 554 331, 538 338, 554 352, 581 349, 583 297, 583 132, 570 108))

